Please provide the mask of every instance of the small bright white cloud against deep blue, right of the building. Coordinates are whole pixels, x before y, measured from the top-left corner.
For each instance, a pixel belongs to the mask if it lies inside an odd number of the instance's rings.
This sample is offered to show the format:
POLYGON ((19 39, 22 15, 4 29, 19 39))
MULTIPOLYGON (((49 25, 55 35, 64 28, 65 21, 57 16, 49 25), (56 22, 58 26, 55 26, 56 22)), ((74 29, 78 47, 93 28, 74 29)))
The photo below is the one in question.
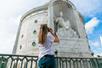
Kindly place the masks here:
POLYGON ((89 22, 87 22, 85 24, 85 29, 86 29, 86 33, 90 34, 93 32, 93 30, 95 29, 95 27, 99 24, 99 20, 94 17, 92 18, 89 22))

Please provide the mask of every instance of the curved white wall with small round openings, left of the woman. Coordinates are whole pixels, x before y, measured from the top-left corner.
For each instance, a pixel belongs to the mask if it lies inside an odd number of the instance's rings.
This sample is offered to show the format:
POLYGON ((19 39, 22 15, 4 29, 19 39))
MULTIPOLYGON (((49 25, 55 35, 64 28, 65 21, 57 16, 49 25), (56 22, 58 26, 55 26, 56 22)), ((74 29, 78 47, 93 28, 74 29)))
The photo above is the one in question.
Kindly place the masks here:
POLYGON ((44 10, 33 13, 22 21, 16 54, 38 55, 37 36, 39 27, 42 23, 47 24, 47 18, 47 11, 44 10), (32 45, 33 42, 36 43, 35 46, 32 45))

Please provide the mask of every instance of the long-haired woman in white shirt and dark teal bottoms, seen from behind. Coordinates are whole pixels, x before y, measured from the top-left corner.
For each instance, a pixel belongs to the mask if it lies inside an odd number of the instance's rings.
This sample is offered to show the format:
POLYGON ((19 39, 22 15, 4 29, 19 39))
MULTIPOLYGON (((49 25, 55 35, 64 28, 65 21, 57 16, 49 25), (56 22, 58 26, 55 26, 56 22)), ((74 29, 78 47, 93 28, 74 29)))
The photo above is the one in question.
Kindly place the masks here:
POLYGON ((59 42, 59 38, 56 33, 53 33, 51 28, 47 27, 47 24, 40 26, 40 32, 38 36, 39 41, 39 68, 55 68, 53 42, 59 42))

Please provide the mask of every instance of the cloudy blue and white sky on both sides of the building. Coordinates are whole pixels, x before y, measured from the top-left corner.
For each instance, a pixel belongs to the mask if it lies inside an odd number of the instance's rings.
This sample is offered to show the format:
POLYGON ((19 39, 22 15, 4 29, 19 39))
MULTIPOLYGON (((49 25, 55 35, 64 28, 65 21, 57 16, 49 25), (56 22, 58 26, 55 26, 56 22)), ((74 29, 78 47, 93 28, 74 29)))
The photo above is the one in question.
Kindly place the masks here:
MULTIPOLYGON (((12 53, 19 20, 50 0, 0 0, 0 53, 12 53)), ((91 51, 102 55, 102 0, 70 0, 84 18, 91 51)))

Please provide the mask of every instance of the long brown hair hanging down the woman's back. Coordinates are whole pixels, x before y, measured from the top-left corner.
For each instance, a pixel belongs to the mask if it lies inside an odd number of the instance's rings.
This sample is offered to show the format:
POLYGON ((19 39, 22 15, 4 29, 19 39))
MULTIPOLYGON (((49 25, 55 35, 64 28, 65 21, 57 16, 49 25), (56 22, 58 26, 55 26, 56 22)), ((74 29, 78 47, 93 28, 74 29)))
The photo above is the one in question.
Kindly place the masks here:
POLYGON ((47 24, 41 24, 39 35, 38 35, 38 42, 40 44, 44 44, 44 42, 45 42, 45 40, 47 38, 47 33, 48 33, 47 24))

